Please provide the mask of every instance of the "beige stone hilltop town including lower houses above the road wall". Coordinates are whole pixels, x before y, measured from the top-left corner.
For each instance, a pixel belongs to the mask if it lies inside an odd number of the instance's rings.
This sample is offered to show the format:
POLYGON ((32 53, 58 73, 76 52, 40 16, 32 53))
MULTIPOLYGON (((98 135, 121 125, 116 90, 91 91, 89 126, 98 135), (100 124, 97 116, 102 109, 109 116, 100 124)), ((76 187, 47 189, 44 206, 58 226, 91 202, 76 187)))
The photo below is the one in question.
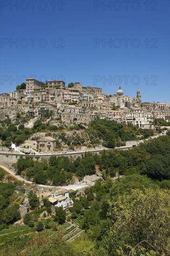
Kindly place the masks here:
MULTIPOLYGON (((131 97, 124 95, 121 86, 115 94, 104 94, 102 88, 85 87, 81 82, 69 83, 68 87, 65 87, 64 81, 55 80, 43 83, 28 78, 26 83, 17 86, 16 91, 0 94, 0 120, 5 122, 7 119, 15 125, 24 125, 22 128, 18 127, 19 129, 34 127, 34 131, 36 131, 34 134, 32 133, 32 137, 28 136, 31 135, 29 131, 26 131, 25 137, 22 133, 18 133, 20 138, 15 140, 15 137, 11 142, 23 148, 45 152, 53 151, 59 144, 59 140, 64 141, 64 146, 65 143, 73 146, 86 146, 90 139, 87 140, 87 135, 84 134, 83 140, 79 139, 76 144, 79 131, 74 130, 79 129, 76 128, 76 125, 84 129, 87 128, 91 121, 115 121, 118 124, 127 125, 127 127, 134 126, 152 131, 155 129, 156 120, 170 121, 170 106, 163 102, 142 102, 139 89, 136 97, 131 97), (40 127, 42 124, 39 123, 39 120, 50 124, 49 130, 53 134, 38 133, 44 128, 42 126, 42 129, 36 130, 36 127, 40 127), (63 134, 57 137, 55 134, 57 129, 68 127, 72 131, 67 132, 66 138, 63 134), (75 143, 68 142, 69 138, 71 140, 69 136, 72 136, 72 141, 75 143)), ((3 131, 4 129, 2 129, 3 131)), ((9 145, 10 140, 8 140, 10 136, 12 135, 2 136, 1 142, 3 142, 3 137, 6 141, 4 144, 2 143, 2 146, 11 146, 9 145)), ((59 145, 59 148, 61 146, 59 145)))

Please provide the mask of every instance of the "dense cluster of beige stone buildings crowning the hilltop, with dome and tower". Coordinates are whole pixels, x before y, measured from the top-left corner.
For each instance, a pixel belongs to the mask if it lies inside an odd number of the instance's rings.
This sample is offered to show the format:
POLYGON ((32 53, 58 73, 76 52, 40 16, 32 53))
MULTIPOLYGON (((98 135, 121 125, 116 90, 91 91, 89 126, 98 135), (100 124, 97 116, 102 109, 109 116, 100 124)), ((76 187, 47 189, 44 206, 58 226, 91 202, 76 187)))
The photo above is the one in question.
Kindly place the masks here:
POLYGON ((150 129, 154 118, 170 121, 169 104, 142 103, 139 89, 136 97, 130 97, 120 86, 116 94, 104 94, 102 88, 84 87, 81 82, 67 88, 64 81, 45 84, 33 78, 26 79, 25 90, 0 94, 0 107, 21 110, 32 118, 52 111, 54 118, 70 123, 106 119, 150 129))

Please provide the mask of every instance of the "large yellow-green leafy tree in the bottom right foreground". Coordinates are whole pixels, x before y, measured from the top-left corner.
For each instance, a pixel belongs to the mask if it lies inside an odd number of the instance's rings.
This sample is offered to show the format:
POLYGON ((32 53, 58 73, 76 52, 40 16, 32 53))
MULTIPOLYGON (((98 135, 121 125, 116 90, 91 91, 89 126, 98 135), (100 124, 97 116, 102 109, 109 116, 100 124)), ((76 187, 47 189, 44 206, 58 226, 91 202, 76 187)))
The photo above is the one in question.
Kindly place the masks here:
POLYGON ((170 193, 160 189, 133 190, 109 201, 110 232, 99 255, 169 255, 170 193))

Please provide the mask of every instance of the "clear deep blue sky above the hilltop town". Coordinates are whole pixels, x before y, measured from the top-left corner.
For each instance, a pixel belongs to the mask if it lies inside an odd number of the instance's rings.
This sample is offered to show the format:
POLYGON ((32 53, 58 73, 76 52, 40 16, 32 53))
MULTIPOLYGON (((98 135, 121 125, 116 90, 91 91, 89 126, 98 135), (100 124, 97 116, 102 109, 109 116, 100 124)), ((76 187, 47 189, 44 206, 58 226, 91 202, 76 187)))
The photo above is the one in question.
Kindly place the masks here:
POLYGON ((0 92, 34 75, 170 102, 169 24, 168 0, 1 0, 0 92))

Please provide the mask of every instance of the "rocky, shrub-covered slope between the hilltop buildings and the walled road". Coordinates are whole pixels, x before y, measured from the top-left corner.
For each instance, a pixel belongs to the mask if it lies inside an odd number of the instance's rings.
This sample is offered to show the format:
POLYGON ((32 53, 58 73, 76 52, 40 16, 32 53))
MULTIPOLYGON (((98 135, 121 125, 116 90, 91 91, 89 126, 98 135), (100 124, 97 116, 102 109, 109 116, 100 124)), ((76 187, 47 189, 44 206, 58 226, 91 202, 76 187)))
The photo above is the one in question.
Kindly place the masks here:
POLYGON ((137 135, 148 138, 153 135, 152 130, 144 130, 132 125, 125 125, 109 120, 91 121, 88 126, 84 124, 66 126, 60 121, 39 119, 34 122, 33 128, 25 128, 24 124, 12 123, 10 119, 1 122, 1 145, 10 147, 11 143, 17 146, 27 139, 36 140, 39 133, 52 136, 56 139, 57 147, 89 146, 103 144, 104 147, 114 148, 125 144, 125 141, 137 139, 137 135))

